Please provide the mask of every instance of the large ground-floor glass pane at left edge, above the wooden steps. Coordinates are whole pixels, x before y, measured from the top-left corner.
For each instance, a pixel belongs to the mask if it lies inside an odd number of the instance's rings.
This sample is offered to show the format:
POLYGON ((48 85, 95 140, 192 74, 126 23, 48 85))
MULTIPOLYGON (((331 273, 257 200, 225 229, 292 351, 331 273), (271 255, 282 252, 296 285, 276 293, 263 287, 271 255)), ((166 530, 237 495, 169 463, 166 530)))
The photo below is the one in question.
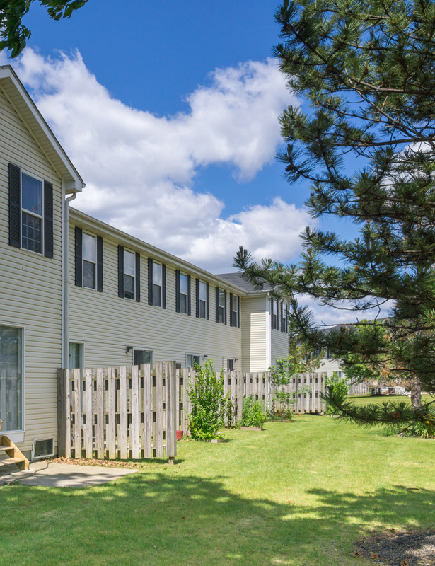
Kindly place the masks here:
POLYGON ((23 329, 0 325, 0 419, 23 430, 23 329))

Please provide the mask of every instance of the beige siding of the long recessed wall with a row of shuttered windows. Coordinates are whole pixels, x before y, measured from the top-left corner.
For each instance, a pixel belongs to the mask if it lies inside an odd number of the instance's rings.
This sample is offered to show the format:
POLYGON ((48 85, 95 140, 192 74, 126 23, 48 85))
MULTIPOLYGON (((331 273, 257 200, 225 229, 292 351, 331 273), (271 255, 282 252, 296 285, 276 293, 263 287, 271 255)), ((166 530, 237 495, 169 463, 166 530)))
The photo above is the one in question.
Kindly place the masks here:
MULTIPOLYGON (((71 213, 74 216, 74 212, 71 213)), ((93 226, 79 223, 87 233, 93 226)), ((69 340, 85 345, 86 366, 132 364, 135 349, 153 350, 154 361, 176 360, 185 366, 186 354, 207 355, 214 369, 226 367, 226 359, 238 358, 241 369, 241 330, 216 323, 216 284, 209 282, 209 320, 196 318, 195 279, 191 279, 191 316, 175 312, 175 270, 189 274, 182 265, 166 263, 166 309, 148 304, 148 258, 161 263, 145 249, 134 248, 118 236, 103 235, 103 292, 74 284, 74 218, 70 221, 69 340), (141 301, 118 296, 117 246, 141 254, 141 301)), ((144 244, 145 246, 145 244, 144 244)), ((199 277, 207 282, 206 277, 199 277)), ((226 288, 219 284, 220 288, 226 288)), ((232 290, 232 292, 234 292, 232 290)), ((229 309, 229 289, 227 309, 229 309)), ((229 312, 229 311, 228 311, 229 312)))

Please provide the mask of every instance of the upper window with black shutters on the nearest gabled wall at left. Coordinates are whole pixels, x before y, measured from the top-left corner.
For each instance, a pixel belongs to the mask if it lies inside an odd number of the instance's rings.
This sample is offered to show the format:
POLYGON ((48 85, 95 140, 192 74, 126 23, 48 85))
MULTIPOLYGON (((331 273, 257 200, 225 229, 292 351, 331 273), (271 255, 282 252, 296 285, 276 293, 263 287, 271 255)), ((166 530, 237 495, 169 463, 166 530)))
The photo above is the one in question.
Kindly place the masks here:
POLYGON ((9 163, 9 244, 53 257, 53 185, 9 163))

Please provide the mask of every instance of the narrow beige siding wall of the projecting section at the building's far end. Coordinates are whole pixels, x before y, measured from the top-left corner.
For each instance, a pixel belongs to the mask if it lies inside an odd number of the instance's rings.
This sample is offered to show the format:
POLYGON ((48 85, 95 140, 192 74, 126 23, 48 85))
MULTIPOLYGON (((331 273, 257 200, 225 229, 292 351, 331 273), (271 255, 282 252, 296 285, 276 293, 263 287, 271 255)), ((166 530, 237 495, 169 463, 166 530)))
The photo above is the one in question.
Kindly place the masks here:
POLYGON ((265 371, 267 360, 267 296, 245 296, 241 301, 243 371, 265 371))

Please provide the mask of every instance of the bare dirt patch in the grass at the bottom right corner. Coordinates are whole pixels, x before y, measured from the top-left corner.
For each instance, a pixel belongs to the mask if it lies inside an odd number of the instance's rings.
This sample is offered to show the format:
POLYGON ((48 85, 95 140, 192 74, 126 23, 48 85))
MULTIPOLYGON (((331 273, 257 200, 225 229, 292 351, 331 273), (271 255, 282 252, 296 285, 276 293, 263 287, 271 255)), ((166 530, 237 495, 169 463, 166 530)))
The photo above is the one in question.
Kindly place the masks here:
POLYGON ((394 529, 355 543, 354 556, 388 566, 435 566, 435 531, 394 529))

